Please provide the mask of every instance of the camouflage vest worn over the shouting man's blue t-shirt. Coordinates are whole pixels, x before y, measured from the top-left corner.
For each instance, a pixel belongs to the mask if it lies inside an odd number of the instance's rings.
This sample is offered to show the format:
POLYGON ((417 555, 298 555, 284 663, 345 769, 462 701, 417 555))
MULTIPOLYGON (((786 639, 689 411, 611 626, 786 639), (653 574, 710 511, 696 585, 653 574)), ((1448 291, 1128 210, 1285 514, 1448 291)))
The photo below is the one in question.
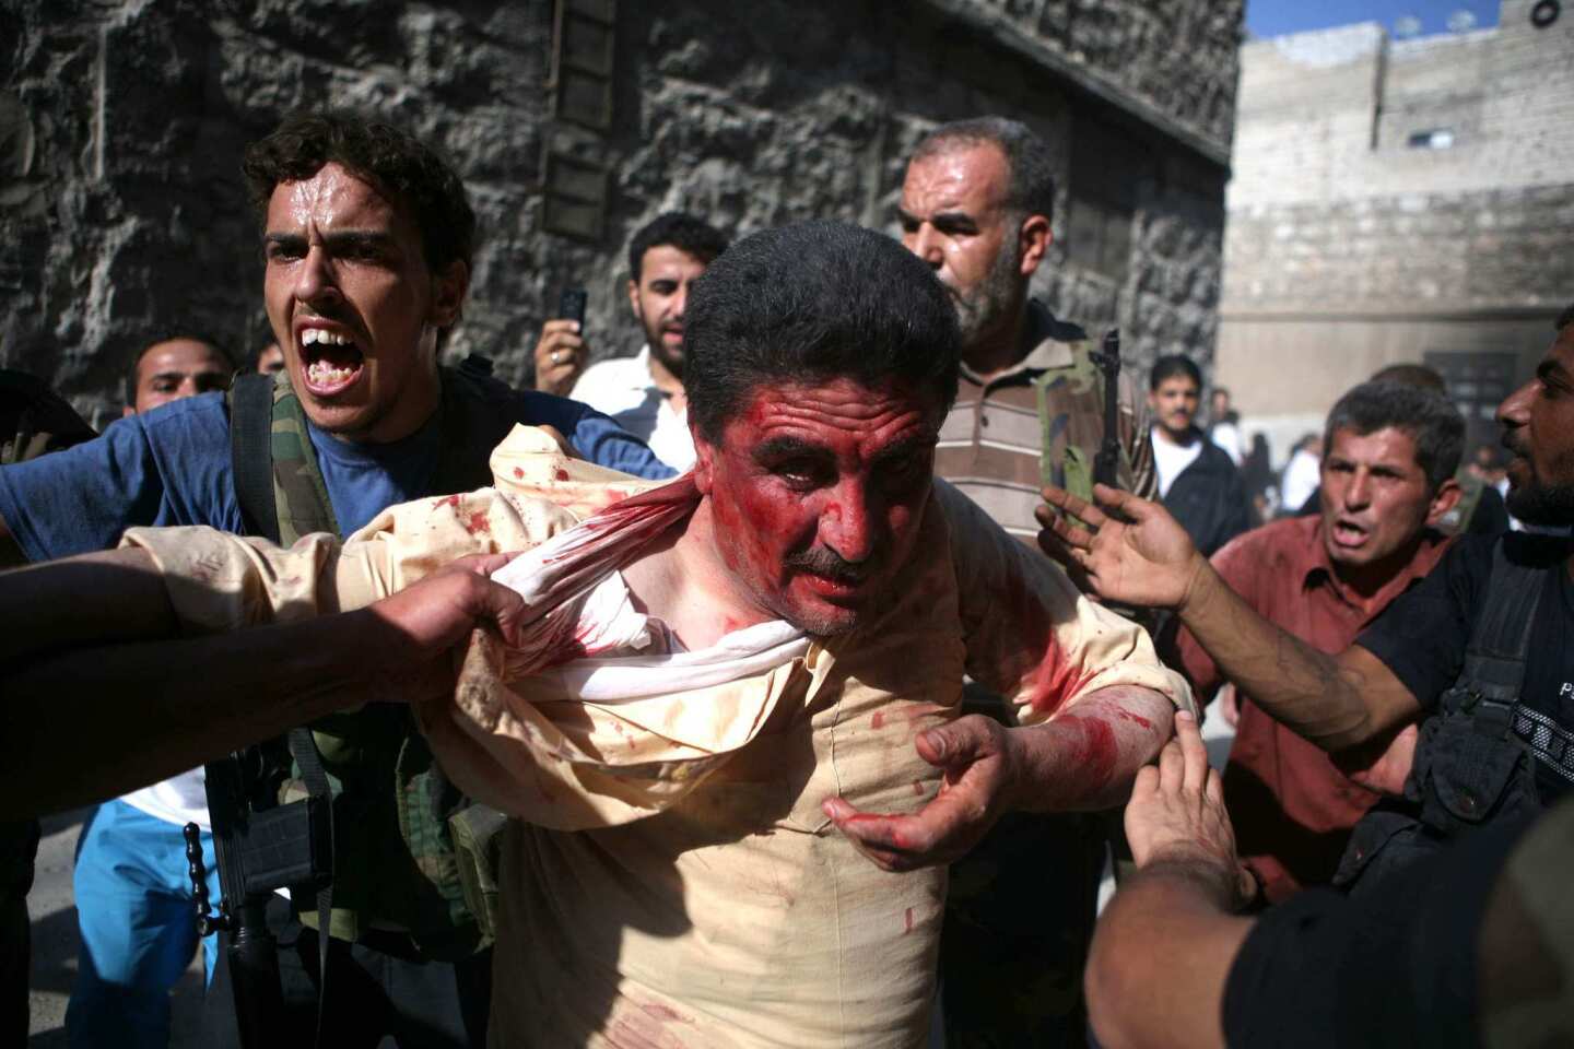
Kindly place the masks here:
MULTIPOLYGON (((261 382, 272 382, 266 451, 275 521, 252 521, 247 514, 249 532, 283 546, 312 532, 338 535, 305 414, 285 373, 236 379, 231 392, 236 459, 260 455, 260 448, 247 445, 236 403, 258 396, 261 382)), ((442 458, 425 495, 491 483, 491 450, 518 420, 512 396, 508 387, 475 368, 442 370, 442 458)), ((236 488, 246 484, 238 462, 236 488)), ((244 494, 241 503, 242 510, 249 503, 244 494)), ((408 709, 390 703, 332 714, 313 722, 312 736, 334 793, 329 933, 356 940, 376 926, 401 928, 423 953, 449 959, 486 947, 490 937, 466 906, 467 871, 455 854, 449 823, 471 802, 444 775, 408 709)), ((291 772, 299 777, 299 764, 291 772)), ((299 790, 299 780, 290 783, 299 790)), ((304 901, 297 909, 302 923, 318 925, 304 901)))

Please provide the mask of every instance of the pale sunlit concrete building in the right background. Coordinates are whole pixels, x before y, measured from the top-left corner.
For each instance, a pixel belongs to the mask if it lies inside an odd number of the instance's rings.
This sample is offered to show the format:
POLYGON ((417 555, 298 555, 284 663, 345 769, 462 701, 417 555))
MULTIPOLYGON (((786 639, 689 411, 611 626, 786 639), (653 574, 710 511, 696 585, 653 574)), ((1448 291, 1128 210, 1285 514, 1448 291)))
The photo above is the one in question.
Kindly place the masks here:
POLYGON ((1217 379, 1275 459, 1384 365, 1445 374, 1470 440, 1574 300, 1574 5, 1240 52, 1217 379))

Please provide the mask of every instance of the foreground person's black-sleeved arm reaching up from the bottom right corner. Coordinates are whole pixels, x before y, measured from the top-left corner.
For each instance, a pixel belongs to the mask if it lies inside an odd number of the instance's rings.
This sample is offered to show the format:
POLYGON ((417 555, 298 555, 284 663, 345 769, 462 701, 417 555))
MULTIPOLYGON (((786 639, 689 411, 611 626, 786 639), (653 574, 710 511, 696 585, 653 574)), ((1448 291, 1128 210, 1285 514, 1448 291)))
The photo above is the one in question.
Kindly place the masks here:
POLYGON ((1132 788, 1138 871, 1099 922, 1088 1007, 1105 1049, 1565 1046, 1574 1041, 1574 801, 1420 860, 1362 900, 1258 918, 1196 723, 1132 788))

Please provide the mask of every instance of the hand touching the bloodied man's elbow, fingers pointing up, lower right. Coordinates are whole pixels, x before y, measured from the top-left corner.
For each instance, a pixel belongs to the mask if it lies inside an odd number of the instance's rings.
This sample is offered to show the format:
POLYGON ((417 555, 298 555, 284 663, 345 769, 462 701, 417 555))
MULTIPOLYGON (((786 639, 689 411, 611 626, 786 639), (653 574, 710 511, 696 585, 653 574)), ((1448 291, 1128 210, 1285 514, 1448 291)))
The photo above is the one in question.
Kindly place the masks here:
POLYGON ((1176 712, 1176 738, 1146 766, 1125 805, 1125 837, 1136 867, 1179 862, 1212 871, 1232 885, 1237 901, 1254 892, 1251 874, 1236 856, 1236 832, 1225 812, 1225 788, 1207 764, 1196 719, 1176 712))

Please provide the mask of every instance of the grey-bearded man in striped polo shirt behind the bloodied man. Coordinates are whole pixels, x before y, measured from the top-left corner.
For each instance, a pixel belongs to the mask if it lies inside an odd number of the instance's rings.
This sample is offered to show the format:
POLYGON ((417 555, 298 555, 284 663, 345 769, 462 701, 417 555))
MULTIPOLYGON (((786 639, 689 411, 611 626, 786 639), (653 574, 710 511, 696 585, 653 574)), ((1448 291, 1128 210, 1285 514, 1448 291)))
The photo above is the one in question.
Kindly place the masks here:
MULTIPOLYGON (((1025 543, 1037 535, 1042 484, 1091 499, 1105 436, 1103 376, 1088 335, 1028 294, 1055 242, 1053 212, 1048 146, 1017 121, 982 116, 941 124, 919 142, 897 215, 902 244, 944 283, 962 324, 960 388, 940 429, 935 473, 1025 543)), ((1125 376, 1119 406, 1119 486, 1155 499, 1147 406, 1125 376)), ((979 687, 970 687, 968 703, 996 716, 1004 709, 979 687)), ((1081 970, 1105 837, 1081 816, 1012 818, 952 871, 941 959, 952 1049, 1081 1040, 1081 970), (1055 890, 1040 895, 1033 889, 1044 884, 1050 857, 1055 890), (1047 909, 1025 914, 1025 893, 1047 909), (1055 988, 1031 1008, 1012 989, 1026 972, 1055 988)))

